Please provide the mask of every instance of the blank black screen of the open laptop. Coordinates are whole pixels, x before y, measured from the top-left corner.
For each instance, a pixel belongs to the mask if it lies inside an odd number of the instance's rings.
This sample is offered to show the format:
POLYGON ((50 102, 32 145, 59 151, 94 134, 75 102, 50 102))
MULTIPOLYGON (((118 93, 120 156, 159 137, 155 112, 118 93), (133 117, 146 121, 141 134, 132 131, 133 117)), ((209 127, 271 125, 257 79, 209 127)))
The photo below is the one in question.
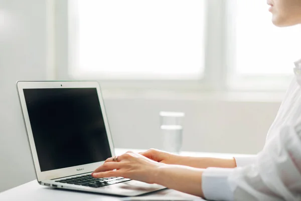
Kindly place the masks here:
POLYGON ((96 88, 23 90, 42 172, 111 157, 96 88))

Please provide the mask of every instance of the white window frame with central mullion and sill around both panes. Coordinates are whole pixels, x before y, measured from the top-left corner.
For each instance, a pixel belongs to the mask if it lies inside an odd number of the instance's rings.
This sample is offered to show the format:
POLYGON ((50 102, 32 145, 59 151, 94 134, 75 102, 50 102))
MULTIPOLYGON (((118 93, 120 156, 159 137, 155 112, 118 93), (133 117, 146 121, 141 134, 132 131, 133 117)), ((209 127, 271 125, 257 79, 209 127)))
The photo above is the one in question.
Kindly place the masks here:
MULTIPOLYGON (((235 1, 205 0, 205 68, 202 79, 137 80, 92 79, 108 90, 174 90, 174 91, 284 91, 291 76, 239 76, 235 67, 235 1), (224 34, 220 34, 224 33, 224 34), (277 80, 277 81, 276 81, 277 80)), ((55 4, 55 79, 73 77, 70 68, 77 61, 77 1, 54 0, 55 4)))

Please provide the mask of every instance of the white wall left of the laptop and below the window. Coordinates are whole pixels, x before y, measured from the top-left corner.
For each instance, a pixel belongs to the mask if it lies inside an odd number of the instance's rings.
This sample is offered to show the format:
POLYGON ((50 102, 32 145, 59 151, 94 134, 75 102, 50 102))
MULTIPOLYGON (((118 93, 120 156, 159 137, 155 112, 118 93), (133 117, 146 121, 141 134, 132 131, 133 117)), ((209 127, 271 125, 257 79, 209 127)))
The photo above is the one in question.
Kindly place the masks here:
MULTIPOLYGON (((42 0, 0 0, 0 191, 35 179, 15 83, 47 77, 45 13, 42 0)), ((60 55, 58 70, 66 68, 60 55)), ((186 113, 183 150, 256 153, 279 107, 273 101, 180 96, 118 97, 106 91, 115 146, 161 148, 158 116, 164 110, 186 113)))

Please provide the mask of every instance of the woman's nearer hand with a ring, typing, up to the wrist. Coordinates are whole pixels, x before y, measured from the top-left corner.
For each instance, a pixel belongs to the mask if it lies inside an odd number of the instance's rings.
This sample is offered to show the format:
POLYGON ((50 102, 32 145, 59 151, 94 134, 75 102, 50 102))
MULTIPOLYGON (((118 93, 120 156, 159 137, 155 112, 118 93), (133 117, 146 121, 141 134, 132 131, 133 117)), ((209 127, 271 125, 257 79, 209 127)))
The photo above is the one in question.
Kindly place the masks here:
POLYGON ((96 178, 121 176, 146 183, 156 183, 156 175, 162 165, 164 164, 128 151, 118 156, 118 162, 108 158, 92 173, 92 176, 96 178))

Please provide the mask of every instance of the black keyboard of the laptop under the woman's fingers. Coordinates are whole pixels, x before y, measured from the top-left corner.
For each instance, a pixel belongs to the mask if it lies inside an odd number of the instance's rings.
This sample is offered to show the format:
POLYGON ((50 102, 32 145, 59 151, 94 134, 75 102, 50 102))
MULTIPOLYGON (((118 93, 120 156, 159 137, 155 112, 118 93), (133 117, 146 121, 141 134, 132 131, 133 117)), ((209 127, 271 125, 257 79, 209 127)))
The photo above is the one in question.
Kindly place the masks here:
POLYGON ((129 181, 129 180, 130 179, 123 178, 123 177, 94 178, 94 177, 92 177, 92 175, 87 174, 87 175, 83 175, 83 176, 77 176, 77 177, 57 180, 56 182, 98 188, 98 187, 102 187, 102 186, 112 185, 115 183, 129 181))

